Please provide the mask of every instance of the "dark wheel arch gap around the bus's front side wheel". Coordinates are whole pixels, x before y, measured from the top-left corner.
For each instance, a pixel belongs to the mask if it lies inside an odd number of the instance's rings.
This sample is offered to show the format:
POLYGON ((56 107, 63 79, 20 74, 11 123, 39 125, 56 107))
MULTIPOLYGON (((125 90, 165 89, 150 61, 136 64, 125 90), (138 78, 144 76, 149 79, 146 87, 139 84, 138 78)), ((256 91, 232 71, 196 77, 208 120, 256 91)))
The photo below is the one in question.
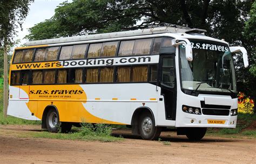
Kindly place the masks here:
POLYGON ((139 129, 138 129, 139 116, 142 115, 143 112, 150 112, 153 118, 153 122, 156 124, 153 111, 147 106, 140 106, 133 112, 133 115, 132 115, 132 120, 131 120, 132 134, 139 134, 139 129))

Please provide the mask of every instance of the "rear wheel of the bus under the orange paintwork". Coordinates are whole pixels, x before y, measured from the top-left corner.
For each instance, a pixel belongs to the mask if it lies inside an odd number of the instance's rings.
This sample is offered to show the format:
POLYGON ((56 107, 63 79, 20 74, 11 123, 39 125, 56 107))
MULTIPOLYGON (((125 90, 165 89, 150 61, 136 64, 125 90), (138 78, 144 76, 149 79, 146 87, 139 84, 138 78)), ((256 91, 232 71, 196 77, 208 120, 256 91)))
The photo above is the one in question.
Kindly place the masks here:
POLYGON ((49 110, 46 115, 46 127, 49 132, 57 133, 59 130, 59 115, 55 109, 49 110))

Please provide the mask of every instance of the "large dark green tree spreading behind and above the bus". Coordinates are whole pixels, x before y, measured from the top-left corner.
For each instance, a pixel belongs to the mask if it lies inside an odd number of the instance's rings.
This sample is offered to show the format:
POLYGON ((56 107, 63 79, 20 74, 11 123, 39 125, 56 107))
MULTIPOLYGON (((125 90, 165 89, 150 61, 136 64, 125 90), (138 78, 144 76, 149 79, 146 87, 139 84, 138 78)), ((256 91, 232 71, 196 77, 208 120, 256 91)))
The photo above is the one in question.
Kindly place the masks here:
MULTIPOLYGON (((38 40, 69 37, 171 23, 203 28, 210 37, 224 38, 231 46, 244 46, 250 64, 253 64, 254 44, 243 35, 252 4, 253 1, 76 0, 60 4, 51 19, 29 28, 30 34, 26 38, 38 40)), ((255 30, 255 25, 253 27, 255 30)), ((235 56, 234 61, 237 80, 244 82, 246 90, 252 88, 248 95, 256 95, 256 88, 251 85, 255 78, 242 65, 241 54, 235 56)))

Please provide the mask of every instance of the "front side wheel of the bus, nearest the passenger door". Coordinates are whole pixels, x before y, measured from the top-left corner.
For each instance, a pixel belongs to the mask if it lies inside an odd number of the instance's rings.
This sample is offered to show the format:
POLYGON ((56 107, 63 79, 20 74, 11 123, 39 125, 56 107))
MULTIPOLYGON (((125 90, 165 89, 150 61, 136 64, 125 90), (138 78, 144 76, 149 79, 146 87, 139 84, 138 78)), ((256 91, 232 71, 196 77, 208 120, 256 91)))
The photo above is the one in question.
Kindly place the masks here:
POLYGON ((150 112, 143 112, 139 117, 139 134, 145 140, 154 140, 160 136, 161 127, 154 123, 153 116, 150 112))

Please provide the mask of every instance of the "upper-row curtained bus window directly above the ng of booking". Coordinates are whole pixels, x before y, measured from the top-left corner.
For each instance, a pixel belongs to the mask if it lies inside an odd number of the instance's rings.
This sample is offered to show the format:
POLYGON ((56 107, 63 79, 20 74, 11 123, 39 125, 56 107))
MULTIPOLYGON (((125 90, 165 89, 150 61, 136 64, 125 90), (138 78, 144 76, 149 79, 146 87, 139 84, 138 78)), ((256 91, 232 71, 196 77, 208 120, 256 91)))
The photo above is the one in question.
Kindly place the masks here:
POLYGON ((114 56, 116 55, 118 41, 104 42, 100 56, 114 56))

